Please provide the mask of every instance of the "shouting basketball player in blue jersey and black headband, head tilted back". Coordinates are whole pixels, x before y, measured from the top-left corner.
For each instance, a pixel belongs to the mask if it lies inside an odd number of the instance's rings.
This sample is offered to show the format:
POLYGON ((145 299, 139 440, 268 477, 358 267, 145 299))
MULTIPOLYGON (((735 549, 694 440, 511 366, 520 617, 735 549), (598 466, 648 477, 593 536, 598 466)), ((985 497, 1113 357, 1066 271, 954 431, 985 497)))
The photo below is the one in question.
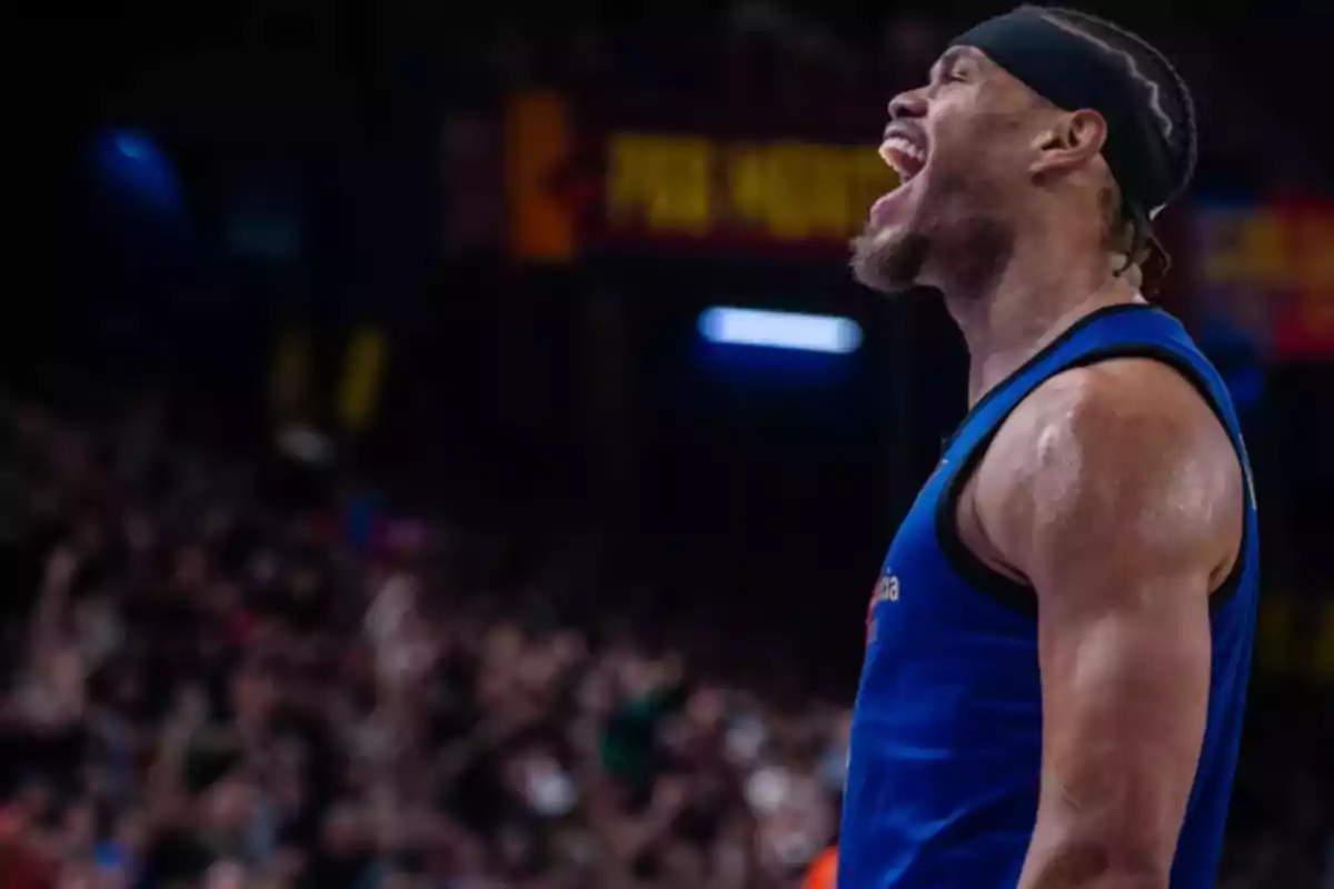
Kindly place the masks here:
POLYGON ((1139 293, 1195 163, 1141 39, 1025 7, 890 103, 854 271, 939 289, 971 412, 868 614, 844 889, 1206 889, 1242 726, 1257 526, 1237 416, 1139 293))

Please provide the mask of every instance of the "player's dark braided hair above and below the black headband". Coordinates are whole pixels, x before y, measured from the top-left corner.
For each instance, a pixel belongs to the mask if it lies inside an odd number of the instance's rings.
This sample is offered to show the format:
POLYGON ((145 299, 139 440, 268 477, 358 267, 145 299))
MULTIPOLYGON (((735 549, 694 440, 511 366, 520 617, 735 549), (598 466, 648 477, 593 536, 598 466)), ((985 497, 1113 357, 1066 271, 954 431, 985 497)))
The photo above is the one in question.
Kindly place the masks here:
MULTIPOLYGON (((1179 196, 1195 172, 1198 157, 1195 101, 1182 76, 1166 56, 1143 37, 1105 19, 1077 9, 1038 7, 1034 11, 1107 52, 1121 56, 1127 69, 1145 83, 1159 119, 1159 132, 1169 145, 1181 183, 1169 200, 1179 196)), ((1103 208, 1107 213, 1110 247, 1126 257, 1125 265, 1117 273, 1125 273, 1131 267, 1145 267, 1157 259, 1162 268, 1155 271, 1154 281, 1161 281, 1171 267, 1171 257, 1154 236, 1151 209, 1139 207, 1137 201, 1123 200, 1121 189, 1115 185, 1105 196, 1103 208)))

